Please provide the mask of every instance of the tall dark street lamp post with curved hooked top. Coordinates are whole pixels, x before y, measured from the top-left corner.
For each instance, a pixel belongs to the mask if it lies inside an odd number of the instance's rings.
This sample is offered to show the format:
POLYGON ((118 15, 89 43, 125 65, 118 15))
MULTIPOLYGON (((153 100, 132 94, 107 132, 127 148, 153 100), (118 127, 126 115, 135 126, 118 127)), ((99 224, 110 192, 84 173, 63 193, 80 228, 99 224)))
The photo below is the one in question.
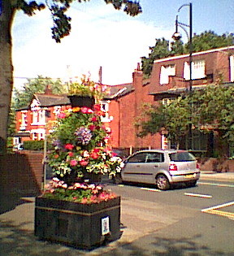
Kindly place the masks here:
MULTIPOLYGON (((173 34, 172 38, 176 41, 180 40, 181 35, 178 32, 178 27, 182 28, 184 32, 186 33, 188 39, 189 39, 189 98, 192 94, 193 90, 193 80, 192 80, 192 63, 193 63, 193 8, 192 8, 192 2, 189 2, 189 4, 184 4, 182 5, 179 9, 178 12, 183 7, 189 7, 189 25, 184 24, 178 21, 178 15, 176 15, 176 32, 173 34), (189 28, 189 34, 187 30, 184 28, 187 27, 189 28)), ((190 99, 189 99, 190 100, 190 99)), ((191 102, 189 103, 189 109, 190 109, 190 122, 189 122, 189 150, 192 150, 192 104, 191 102)))

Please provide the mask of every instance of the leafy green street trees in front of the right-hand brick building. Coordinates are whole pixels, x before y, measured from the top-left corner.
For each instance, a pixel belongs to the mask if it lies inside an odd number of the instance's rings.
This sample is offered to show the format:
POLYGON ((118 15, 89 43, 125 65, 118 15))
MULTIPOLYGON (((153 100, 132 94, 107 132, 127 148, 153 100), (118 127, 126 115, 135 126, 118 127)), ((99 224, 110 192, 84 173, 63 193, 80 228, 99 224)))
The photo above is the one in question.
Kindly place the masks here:
POLYGON ((178 144, 188 134, 189 124, 200 132, 219 130, 223 140, 234 141, 234 87, 207 85, 171 100, 168 105, 144 106, 136 120, 137 135, 160 132, 165 128, 168 137, 178 144))

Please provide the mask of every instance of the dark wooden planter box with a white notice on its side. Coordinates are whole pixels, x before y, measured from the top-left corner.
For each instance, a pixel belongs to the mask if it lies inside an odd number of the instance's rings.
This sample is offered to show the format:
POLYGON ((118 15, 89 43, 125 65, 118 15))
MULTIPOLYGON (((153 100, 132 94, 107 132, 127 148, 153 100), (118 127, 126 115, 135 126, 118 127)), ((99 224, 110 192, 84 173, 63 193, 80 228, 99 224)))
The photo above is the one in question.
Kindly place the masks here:
POLYGON ((81 249, 93 249, 121 236, 120 197, 81 204, 36 197, 35 236, 81 249))

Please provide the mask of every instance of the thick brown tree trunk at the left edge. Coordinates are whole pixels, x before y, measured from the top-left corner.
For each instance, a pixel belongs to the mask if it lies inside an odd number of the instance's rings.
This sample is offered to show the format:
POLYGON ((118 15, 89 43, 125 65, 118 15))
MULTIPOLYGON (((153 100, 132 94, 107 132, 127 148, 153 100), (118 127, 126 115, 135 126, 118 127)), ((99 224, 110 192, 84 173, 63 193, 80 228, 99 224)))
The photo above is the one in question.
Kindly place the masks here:
POLYGON ((0 154, 6 152, 7 122, 13 88, 13 67, 11 60, 11 24, 14 9, 11 0, 3 0, 0 13, 0 154))

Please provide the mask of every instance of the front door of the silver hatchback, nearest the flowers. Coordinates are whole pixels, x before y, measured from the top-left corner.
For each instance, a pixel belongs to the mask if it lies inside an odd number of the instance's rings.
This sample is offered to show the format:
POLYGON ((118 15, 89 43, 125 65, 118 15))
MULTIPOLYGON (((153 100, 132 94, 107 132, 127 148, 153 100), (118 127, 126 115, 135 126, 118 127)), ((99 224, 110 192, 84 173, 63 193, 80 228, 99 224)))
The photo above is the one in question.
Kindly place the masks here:
POLYGON ((145 170, 145 158, 146 153, 141 152, 132 155, 125 162, 125 166, 121 171, 122 179, 124 181, 132 182, 145 182, 145 176, 143 171, 145 170))

